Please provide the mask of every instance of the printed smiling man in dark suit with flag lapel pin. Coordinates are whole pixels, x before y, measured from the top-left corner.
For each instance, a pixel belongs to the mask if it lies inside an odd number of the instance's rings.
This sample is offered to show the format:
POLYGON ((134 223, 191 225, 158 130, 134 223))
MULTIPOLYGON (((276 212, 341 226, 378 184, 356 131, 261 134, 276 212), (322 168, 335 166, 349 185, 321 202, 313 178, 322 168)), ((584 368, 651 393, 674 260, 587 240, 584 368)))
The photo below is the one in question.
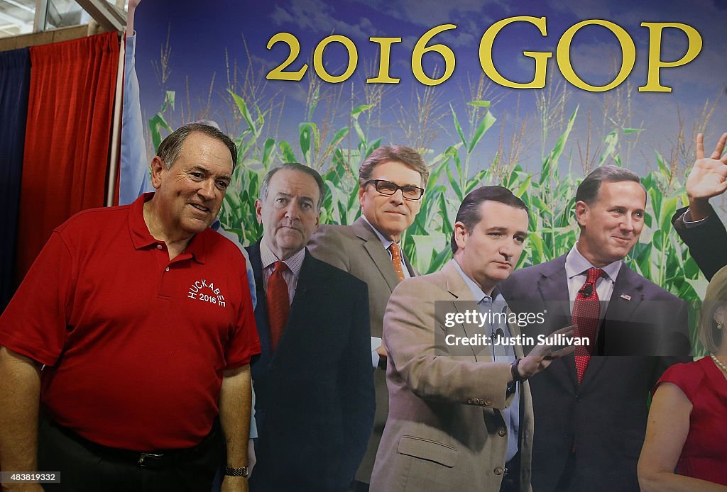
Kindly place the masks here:
POLYGON ((646 190, 632 171, 605 165, 578 187, 579 240, 569 253, 513 272, 502 294, 516 312, 542 312, 547 335, 564 323, 589 347, 531 379, 532 485, 545 491, 638 491, 636 464, 648 393, 687 361, 687 306, 624 264, 644 225, 646 190), (602 356, 607 355, 607 356, 602 356))

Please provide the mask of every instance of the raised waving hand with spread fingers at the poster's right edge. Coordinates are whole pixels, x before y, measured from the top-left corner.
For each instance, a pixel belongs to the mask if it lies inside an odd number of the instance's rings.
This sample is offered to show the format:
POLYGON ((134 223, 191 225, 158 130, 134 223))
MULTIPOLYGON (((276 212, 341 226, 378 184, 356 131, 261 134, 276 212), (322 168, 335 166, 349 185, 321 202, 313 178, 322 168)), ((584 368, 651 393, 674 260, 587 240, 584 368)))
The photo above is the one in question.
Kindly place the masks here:
POLYGON ((696 161, 686 180, 689 212, 693 221, 699 221, 710 213, 707 200, 727 190, 727 155, 722 152, 727 143, 727 133, 722 134, 715 151, 704 157, 704 135, 696 136, 696 161))

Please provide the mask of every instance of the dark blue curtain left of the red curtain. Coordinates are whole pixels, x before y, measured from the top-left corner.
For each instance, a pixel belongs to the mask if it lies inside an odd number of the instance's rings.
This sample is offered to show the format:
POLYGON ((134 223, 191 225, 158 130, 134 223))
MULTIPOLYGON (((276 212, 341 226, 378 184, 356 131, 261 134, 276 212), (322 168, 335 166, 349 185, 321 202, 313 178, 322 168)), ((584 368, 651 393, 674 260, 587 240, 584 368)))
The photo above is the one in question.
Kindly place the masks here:
POLYGON ((28 48, 0 52, 0 310, 15 291, 15 245, 31 85, 28 48))

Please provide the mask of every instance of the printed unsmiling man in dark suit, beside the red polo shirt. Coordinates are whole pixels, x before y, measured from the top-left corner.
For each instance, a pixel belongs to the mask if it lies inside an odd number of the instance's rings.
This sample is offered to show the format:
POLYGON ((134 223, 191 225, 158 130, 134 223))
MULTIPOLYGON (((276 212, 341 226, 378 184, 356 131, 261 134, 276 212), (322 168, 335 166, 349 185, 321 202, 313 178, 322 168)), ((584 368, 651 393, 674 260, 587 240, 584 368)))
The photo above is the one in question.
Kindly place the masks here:
POLYGON ((313 258, 324 182, 312 168, 271 170, 248 248, 262 353, 252 361, 258 428, 251 491, 345 491, 374 418, 366 284, 313 258))

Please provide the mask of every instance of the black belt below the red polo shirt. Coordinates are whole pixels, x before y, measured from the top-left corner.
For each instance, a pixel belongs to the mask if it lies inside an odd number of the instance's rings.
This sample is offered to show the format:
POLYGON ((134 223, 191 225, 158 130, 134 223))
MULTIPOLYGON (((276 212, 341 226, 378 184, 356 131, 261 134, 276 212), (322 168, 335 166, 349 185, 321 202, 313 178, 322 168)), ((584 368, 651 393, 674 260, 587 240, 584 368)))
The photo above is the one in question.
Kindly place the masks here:
POLYGON ((191 448, 142 452, 103 446, 102 444, 82 438, 76 432, 68 429, 68 427, 63 427, 63 425, 59 425, 51 419, 48 419, 48 424, 63 434, 65 438, 84 446, 84 448, 97 454, 97 456, 119 462, 134 463, 140 467, 153 469, 169 467, 199 456, 209 450, 209 446, 214 442, 214 436, 217 435, 217 426, 212 425, 212 430, 209 434, 198 445, 191 448))

